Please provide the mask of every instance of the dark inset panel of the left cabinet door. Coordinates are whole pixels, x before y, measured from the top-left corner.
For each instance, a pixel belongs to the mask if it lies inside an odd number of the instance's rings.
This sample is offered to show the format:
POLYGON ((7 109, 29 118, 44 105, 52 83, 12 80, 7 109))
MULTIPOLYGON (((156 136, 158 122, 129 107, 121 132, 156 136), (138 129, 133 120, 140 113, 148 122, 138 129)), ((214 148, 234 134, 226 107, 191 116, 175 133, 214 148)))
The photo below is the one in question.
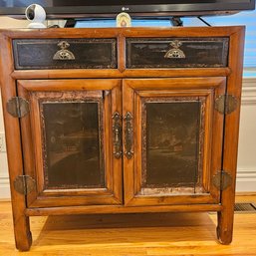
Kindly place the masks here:
POLYGON ((102 105, 101 98, 40 101, 45 188, 105 187, 102 105))

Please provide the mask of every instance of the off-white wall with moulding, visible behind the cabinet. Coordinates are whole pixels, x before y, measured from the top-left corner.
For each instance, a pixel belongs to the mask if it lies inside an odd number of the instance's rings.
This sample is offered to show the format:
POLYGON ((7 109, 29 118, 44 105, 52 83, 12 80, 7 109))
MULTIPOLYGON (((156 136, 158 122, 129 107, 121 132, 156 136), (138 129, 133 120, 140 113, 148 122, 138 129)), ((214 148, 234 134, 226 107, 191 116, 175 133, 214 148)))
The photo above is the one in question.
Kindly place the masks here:
MULTIPOLYGON (((0 17, 0 28, 26 26, 27 21, 0 17)), ((4 126, 2 108, 0 108, 0 133, 2 132, 4 126)), ((6 152, 0 152, 0 198, 10 197, 7 169, 6 152)), ((256 191, 256 79, 243 81, 237 191, 256 191)))

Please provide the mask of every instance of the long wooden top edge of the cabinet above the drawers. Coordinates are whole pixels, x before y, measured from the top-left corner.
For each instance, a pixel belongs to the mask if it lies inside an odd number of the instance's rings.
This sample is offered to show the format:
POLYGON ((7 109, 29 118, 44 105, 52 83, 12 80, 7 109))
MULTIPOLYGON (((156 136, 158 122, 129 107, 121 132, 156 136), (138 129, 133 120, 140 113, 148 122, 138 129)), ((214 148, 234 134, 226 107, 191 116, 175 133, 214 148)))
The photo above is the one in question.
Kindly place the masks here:
POLYGON ((117 36, 229 36, 244 31, 244 26, 228 27, 139 27, 139 28, 58 28, 58 29, 1 29, 0 34, 11 38, 58 37, 117 37, 117 36))

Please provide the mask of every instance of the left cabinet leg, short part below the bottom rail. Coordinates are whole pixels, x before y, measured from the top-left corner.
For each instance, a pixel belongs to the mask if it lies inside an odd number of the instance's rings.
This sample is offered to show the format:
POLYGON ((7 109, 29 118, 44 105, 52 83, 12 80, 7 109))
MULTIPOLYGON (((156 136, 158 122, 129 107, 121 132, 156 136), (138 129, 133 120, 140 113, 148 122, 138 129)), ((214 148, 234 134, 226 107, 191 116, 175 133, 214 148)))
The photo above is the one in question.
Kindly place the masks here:
POLYGON ((16 248, 19 251, 28 251, 32 244, 29 217, 18 216, 18 218, 16 218, 14 215, 13 222, 16 248))

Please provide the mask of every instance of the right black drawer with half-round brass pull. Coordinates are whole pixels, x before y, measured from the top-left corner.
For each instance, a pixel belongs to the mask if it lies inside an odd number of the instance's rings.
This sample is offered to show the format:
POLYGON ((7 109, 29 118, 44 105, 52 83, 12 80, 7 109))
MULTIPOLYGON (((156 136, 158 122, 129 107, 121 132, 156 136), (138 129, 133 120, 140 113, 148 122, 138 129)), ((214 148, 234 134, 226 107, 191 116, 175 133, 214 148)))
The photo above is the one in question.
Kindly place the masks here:
POLYGON ((128 38, 127 68, 227 67, 228 38, 128 38))

